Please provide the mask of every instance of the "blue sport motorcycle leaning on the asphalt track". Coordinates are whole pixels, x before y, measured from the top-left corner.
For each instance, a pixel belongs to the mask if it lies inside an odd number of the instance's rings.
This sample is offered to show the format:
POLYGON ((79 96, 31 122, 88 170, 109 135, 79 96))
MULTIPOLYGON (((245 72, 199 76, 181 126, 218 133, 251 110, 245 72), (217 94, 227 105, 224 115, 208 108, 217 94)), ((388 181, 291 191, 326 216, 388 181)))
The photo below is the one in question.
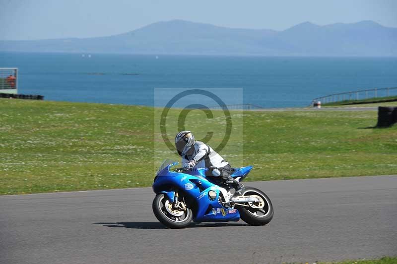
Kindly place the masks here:
MULTIPOLYGON (((170 228, 184 228, 194 222, 227 222, 240 218, 251 225, 265 225, 273 218, 270 199, 261 190, 245 187, 239 195, 228 184, 213 177, 211 169, 184 170, 178 162, 165 160, 154 178, 153 212, 170 228)), ((241 182, 252 166, 233 169, 241 182)))

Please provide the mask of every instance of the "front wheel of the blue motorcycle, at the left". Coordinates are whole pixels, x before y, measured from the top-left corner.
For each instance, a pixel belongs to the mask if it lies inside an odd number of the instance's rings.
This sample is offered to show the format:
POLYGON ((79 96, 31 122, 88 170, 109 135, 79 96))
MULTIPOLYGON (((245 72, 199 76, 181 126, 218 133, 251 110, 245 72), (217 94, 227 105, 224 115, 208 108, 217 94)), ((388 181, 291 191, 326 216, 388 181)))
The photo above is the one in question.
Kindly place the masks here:
POLYGON ((178 210, 164 194, 158 194, 153 200, 152 208, 156 218, 169 228, 185 228, 192 221, 190 208, 178 210))

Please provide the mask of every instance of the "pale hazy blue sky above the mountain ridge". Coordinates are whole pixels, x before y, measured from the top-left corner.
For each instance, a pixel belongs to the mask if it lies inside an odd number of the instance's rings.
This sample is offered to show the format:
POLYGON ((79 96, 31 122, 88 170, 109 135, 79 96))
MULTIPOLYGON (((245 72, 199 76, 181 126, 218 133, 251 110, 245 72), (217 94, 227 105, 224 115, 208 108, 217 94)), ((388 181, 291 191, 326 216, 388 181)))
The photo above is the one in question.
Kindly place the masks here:
POLYGON ((0 39, 107 36, 171 19, 276 30, 305 21, 397 27, 397 0, 0 0, 0 39))

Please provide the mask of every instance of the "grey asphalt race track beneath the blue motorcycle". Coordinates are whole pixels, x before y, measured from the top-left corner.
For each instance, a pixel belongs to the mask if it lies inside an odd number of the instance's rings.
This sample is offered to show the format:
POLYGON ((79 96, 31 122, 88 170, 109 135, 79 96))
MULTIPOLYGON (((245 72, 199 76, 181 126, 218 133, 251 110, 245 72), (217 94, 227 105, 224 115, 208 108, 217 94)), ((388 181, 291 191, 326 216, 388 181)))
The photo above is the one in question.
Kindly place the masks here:
POLYGON ((266 226, 166 229, 150 188, 0 197, 1 264, 282 263, 397 255, 397 176, 251 182, 266 226))

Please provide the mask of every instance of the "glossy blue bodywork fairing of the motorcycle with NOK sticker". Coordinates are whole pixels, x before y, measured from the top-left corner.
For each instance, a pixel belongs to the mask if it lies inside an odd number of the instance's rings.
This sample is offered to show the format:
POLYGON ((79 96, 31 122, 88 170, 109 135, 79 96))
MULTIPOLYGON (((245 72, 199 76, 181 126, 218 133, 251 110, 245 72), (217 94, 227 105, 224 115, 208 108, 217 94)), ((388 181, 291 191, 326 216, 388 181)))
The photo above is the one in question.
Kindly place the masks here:
MULTIPOLYGON (((153 183, 153 191, 156 194, 164 193, 167 198, 174 201, 175 190, 178 189, 196 200, 198 206, 193 218, 195 222, 227 222, 240 219, 237 209, 228 210, 219 203, 219 187, 205 178, 206 169, 177 173, 170 171, 173 165, 176 164, 168 165, 157 174, 153 183), (214 200, 208 197, 208 191, 210 190, 216 193, 214 200)), ((252 167, 241 168, 236 177, 245 177, 251 169, 252 167)))

